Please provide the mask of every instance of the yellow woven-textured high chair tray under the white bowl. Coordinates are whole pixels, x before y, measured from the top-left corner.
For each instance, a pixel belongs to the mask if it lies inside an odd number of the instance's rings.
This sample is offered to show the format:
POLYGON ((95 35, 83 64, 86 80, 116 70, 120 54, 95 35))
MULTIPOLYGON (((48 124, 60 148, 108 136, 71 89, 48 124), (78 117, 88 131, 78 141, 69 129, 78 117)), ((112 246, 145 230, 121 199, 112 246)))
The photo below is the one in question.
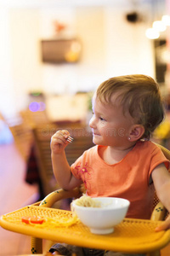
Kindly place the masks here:
POLYGON ((30 206, 3 215, 0 224, 6 230, 28 236, 124 253, 152 252, 165 247, 170 241, 170 230, 155 232, 160 221, 125 218, 121 224, 116 225, 115 231, 109 235, 94 235, 82 223, 67 228, 54 226, 43 228, 41 224, 35 226, 21 222, 23 216, 54 218, 56 215, 60 219, 71 218, 72 213, 48 207, 30 206))

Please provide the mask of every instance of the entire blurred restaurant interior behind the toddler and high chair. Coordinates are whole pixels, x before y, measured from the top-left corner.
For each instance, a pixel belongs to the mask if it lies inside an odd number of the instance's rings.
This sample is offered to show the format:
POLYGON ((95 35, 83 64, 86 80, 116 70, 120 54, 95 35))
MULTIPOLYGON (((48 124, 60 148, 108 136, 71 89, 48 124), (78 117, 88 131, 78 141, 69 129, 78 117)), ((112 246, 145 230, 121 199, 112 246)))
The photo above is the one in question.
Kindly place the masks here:
MULTIPOLYGON (((0 32, 0 215, 59 188, 50 159, 55 131, 74 137, 70 164, 94 145, 91 98, 105 79, 156 79, 166 118, 152 140, 170 149, 170 1, 0 0, 0 32)), ((30 242, 0 227, 1 256, 29 254, 30 242)))

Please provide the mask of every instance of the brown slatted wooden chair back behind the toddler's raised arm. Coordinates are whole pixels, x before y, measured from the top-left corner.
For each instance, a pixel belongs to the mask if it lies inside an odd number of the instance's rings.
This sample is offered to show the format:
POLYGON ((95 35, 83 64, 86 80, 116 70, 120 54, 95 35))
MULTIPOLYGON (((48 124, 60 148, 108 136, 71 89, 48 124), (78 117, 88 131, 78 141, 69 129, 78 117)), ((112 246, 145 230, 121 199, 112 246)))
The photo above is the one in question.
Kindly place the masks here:
POLYGON ((54 124, 41 125, 33 129, 35 143, 35 157, 39 168, 39 176, 42 182, 43 194, 48 195, 55 189, 59 189, 54 178, 54 172, 51 162, 51 137, 57 130, 67 129, 74 138, 74 143, 70 143, 65 148, 67 160, 71 165, 88 148, 94 146, 92 134, 84 127, 77 125, 58 126, 54 124))

